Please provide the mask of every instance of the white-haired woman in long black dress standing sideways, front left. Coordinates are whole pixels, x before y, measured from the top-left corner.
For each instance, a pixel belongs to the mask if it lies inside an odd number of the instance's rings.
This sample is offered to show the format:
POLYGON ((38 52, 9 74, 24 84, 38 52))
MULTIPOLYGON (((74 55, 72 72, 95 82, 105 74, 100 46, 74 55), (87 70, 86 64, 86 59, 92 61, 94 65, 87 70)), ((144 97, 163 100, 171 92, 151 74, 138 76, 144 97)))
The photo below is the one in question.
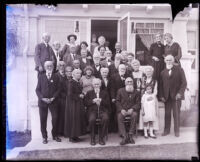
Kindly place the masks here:
POLYGON ((83 105, 84 94, 80 85, 82 71, 74 69, 72 71, 72 81, 69 88, 69 103, 66 107, 66 132, 65 136, 69 137, 70 142, 79 142, 79 136, 86 133, 85 126, 85 109, 83 105))

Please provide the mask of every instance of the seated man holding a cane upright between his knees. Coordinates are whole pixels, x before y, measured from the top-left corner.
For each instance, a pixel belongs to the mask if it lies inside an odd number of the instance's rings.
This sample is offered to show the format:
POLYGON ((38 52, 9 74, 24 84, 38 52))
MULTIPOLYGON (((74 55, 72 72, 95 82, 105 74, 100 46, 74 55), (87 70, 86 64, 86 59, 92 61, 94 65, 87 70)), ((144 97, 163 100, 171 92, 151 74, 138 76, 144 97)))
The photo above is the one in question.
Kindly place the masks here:
POLYGON ((88 108, 89 129, 91 134, 91 145, 95 145, 95 125, 96 119, 100 118, 99 144, 105 145, 104 137, 108 127, 108 113, 110 109, 110 101, 108 92, 100 90, 101 80, 94 78, 92 81, 93 90, 88 91, 85 96, 85 105, 88 108))

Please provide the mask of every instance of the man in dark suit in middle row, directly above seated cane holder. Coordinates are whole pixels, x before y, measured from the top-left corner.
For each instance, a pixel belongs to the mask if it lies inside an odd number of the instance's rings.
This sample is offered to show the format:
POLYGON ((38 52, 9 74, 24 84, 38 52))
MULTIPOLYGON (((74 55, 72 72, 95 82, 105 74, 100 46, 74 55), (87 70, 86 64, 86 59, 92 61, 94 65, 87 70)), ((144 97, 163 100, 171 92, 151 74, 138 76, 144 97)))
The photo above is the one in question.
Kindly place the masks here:
POLYGON ((94 65, 92 65, 92 68, 94 69, 94 76, 96 78, 101 78, 101 73, 100 73, 101 65, 100 65, 100 54, 99 53, 94 53, 93 62, 94 62, 94 65))

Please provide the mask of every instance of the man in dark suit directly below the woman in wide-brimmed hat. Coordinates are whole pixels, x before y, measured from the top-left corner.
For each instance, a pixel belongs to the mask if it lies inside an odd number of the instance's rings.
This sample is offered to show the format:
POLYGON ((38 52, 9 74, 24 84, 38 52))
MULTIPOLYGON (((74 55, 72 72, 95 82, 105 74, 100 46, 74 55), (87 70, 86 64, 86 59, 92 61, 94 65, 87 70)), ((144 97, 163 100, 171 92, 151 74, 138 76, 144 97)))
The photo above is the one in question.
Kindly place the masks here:
POLYGON ((63 56, 63 61, 65 62, 66 66, 72 66, 74 60, 80 60, 81 56, 77 55, 76 53, 76 46, 70 46, 70 53, 65 53, 63 56))

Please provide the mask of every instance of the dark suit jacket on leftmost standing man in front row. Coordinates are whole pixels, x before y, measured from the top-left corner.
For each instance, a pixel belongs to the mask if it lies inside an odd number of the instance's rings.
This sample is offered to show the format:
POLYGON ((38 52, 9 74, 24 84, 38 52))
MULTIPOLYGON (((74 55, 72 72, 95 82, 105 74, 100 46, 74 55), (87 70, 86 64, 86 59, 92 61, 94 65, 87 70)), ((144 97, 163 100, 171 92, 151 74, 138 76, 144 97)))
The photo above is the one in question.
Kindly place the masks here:
POLYGON ((47 79, 46 73, 43 73, 39 76, 36 87, 36 94, 39 99, 38 106, 47 106, 47 104, 42 101, 42 98, 55 97, 55 100, 53 102, 56 102, 59 93, 60 81, 56 74, 52 73, 51 78, 49 80, 47 79))

